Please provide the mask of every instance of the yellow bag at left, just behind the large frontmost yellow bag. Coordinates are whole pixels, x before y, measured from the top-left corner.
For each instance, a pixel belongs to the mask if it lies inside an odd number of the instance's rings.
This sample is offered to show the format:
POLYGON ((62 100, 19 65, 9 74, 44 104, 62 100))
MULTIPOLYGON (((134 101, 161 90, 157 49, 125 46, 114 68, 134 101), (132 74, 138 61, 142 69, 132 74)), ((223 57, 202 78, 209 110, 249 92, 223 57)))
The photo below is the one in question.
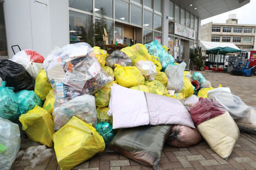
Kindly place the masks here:
POLYGON ((52 115, 46 110, 36 105, 34 109, 20 115, 19 121, 28 139, 49 147, 53 145, 52 135, 55 133, 53 120, 52 115))

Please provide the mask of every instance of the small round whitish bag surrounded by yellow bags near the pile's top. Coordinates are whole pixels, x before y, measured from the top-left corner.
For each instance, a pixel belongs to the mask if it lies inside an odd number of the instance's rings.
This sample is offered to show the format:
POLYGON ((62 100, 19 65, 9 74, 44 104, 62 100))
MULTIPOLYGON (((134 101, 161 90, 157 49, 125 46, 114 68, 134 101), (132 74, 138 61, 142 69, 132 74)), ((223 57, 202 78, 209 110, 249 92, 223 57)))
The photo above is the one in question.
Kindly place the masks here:
POLYGON ((146 80, 152 81, 155 79, 157 72, 154 63, 151 61, 138 61, 135 66, 141 71, 146 80))

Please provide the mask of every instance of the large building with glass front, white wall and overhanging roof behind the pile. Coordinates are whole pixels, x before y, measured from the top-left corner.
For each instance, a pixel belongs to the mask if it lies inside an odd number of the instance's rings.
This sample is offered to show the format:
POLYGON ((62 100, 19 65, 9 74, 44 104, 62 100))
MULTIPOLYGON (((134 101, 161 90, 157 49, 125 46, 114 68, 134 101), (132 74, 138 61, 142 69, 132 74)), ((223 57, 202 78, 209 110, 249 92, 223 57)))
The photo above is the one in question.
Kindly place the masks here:
MULTIPOLYGON (((198 45, 201 19, 234 10, 250 0, 0 0, 0 22, 7 57, 11 46, 33 49, 44 57, 69 43, 146 44, 158 40, 178 61, 198 45)), ((2 56, 1 56, 2 57, 2 56)))

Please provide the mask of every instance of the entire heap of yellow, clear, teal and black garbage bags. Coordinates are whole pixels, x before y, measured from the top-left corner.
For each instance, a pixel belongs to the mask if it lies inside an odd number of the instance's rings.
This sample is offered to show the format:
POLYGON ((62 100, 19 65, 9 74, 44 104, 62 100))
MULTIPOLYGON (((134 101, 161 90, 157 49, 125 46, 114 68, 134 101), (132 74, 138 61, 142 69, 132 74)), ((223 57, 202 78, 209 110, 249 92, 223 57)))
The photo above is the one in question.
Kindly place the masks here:
POLYGON ((85 42, 46 58, 23 50, 0 66, 0 130, 7 132, 0 133, 1 169, 19 151, 16 120, 28 139, 54 148, 61 169, 106 146, 158 169, 164 144, 188 147, 203 138, 227 159, 240 130, 256 132, 255 108, 184 71, 156 40, 110 55, 85 42))

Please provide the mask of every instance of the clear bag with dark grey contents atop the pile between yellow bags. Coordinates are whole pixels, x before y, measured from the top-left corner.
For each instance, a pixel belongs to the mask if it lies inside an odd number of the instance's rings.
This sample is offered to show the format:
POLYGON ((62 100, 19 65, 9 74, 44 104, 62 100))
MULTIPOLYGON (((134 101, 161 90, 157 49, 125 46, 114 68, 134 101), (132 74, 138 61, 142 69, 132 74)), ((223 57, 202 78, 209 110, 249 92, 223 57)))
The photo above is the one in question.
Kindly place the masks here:
POLYGON ((115 50, 106 58, 106 66, 114 69, 115 63, 120 66, 131 66, 131 58, 129 58, 124 52, 115 50))

